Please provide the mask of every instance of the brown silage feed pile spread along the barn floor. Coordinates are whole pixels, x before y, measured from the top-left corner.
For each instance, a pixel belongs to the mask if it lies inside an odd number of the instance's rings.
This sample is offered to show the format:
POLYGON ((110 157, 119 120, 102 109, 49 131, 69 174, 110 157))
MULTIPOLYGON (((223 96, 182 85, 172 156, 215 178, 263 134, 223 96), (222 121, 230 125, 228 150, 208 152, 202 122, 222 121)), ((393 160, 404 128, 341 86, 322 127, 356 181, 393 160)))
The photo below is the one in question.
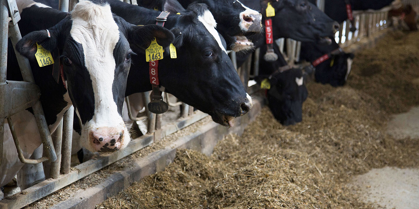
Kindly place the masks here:
POLYGON ((392 113, 419 105, 418 36, 391 33, 358 53, 345 87, 309 84, 303 122, 282 126, 265 107, 211 156, 178 150, 165 171, 96 208, 377 208, 346 185, 371 168, 419 165, 417 139, 385 134, 392 113))

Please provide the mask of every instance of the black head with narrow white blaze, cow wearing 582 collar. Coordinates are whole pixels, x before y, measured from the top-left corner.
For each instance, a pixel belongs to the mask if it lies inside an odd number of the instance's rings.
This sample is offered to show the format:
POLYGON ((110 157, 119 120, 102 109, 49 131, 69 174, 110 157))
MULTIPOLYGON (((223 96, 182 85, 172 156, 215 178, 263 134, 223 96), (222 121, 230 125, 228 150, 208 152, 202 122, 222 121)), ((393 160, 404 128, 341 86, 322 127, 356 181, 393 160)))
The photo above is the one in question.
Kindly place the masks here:
POLYGON ((227 55, 224 39, 215 30, 212 13, 207 5, 192 3, 181 15, 170 18, 178 18, 176 25, 169 21, 165 25, 175 35, 177 59, 167 62, 172 67, 159 70, 160 84, 215 122, 232 125, 233 118, 246 114, 252 102, 227 55))

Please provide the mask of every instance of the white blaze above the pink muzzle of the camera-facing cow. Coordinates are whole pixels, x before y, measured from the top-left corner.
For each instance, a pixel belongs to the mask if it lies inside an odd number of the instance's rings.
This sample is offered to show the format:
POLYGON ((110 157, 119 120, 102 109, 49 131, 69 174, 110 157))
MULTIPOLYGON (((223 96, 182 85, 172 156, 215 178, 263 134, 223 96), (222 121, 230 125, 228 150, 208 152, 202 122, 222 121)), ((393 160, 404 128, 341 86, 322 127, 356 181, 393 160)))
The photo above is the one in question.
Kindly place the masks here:
POLYGON ((95 95, 92 122, 98 127, 115 125, 113 122, 121 117, 112 95, 116 66, 113 52, 119 40, 119 28, 111 7, 83 1, 76 5, 71 19, 70 35, 83 46, 85 66, 92 80, 95 95))

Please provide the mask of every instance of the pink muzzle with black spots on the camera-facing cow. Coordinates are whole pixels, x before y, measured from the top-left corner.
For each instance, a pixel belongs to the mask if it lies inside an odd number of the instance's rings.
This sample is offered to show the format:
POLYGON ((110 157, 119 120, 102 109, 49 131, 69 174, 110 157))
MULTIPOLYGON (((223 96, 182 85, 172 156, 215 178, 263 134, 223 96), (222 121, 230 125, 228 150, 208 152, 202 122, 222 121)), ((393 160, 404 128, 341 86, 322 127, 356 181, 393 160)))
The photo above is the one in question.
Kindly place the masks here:
POLYGON ((83 127, 79 143, 92 153, 106 156, 116 151, 124 150, 130 140, 131 138, 124 122, 115 126, 104 126, 89 121, 83 127))

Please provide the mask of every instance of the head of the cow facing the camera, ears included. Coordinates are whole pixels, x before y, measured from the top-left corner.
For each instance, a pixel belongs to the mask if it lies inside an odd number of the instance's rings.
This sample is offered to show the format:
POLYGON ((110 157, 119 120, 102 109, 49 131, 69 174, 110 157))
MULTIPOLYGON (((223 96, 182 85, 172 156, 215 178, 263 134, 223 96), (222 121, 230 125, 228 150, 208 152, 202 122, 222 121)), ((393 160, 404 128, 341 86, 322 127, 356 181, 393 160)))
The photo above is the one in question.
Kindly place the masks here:
POLYGON ((131 48, 147 48, 153 37, 162 46, 173 40, 165 28, 131 25, 113 15, 108 4, 83 1, 48 31, 28 33, 16 49, 32 60, 36 43, 49 51, 58 49, 63 82, 83 125, 80 145, 107 154, 130 141, 121 112, 131 48))

